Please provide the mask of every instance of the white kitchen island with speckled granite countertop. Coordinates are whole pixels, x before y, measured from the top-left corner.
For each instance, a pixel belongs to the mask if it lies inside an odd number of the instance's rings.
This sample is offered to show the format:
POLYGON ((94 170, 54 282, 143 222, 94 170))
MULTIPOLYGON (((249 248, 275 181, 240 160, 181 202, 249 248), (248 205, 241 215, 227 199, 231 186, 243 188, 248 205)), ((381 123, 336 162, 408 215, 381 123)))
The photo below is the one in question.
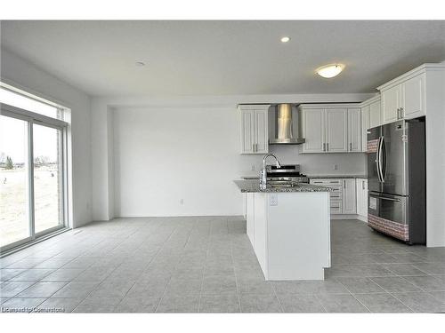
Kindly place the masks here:
POLYGON ((235 180, 247 195, 247 236, 268 281, 324 280, 330 266, 330 187, 235 180))

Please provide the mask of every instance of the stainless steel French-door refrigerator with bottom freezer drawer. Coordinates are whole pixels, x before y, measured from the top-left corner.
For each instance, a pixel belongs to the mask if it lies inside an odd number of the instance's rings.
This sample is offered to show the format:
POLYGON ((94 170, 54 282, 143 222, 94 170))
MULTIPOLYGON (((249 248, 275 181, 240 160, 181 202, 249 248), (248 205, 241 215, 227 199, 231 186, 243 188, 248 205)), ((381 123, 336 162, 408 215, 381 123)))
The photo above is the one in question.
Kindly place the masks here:
POLYGON ((368 226, 426 242, 425 117, 368 130, 368 226))

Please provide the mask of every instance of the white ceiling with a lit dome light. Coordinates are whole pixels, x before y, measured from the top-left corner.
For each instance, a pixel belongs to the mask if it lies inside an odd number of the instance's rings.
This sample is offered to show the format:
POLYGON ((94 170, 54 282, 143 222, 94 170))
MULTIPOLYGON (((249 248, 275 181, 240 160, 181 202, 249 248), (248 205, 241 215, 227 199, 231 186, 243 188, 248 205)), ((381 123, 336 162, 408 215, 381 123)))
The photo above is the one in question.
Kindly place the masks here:
POLYGON ((22 20, 2 21, 1 35, 2 47, 93 96, 373 92, 445 60, 443 20, 22 20), (341 75, 314 75, 333 62, 346 65, 341 75))

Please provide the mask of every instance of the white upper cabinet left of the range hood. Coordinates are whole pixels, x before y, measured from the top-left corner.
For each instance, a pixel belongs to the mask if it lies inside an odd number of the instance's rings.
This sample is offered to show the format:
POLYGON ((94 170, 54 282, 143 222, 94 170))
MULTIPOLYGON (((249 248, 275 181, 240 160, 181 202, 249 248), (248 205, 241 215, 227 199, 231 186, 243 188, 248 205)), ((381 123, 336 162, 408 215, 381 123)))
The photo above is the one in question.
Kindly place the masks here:
POLYGON ((269 105, 240 105, 241 154, 267 154, 269 151, 269 105))

